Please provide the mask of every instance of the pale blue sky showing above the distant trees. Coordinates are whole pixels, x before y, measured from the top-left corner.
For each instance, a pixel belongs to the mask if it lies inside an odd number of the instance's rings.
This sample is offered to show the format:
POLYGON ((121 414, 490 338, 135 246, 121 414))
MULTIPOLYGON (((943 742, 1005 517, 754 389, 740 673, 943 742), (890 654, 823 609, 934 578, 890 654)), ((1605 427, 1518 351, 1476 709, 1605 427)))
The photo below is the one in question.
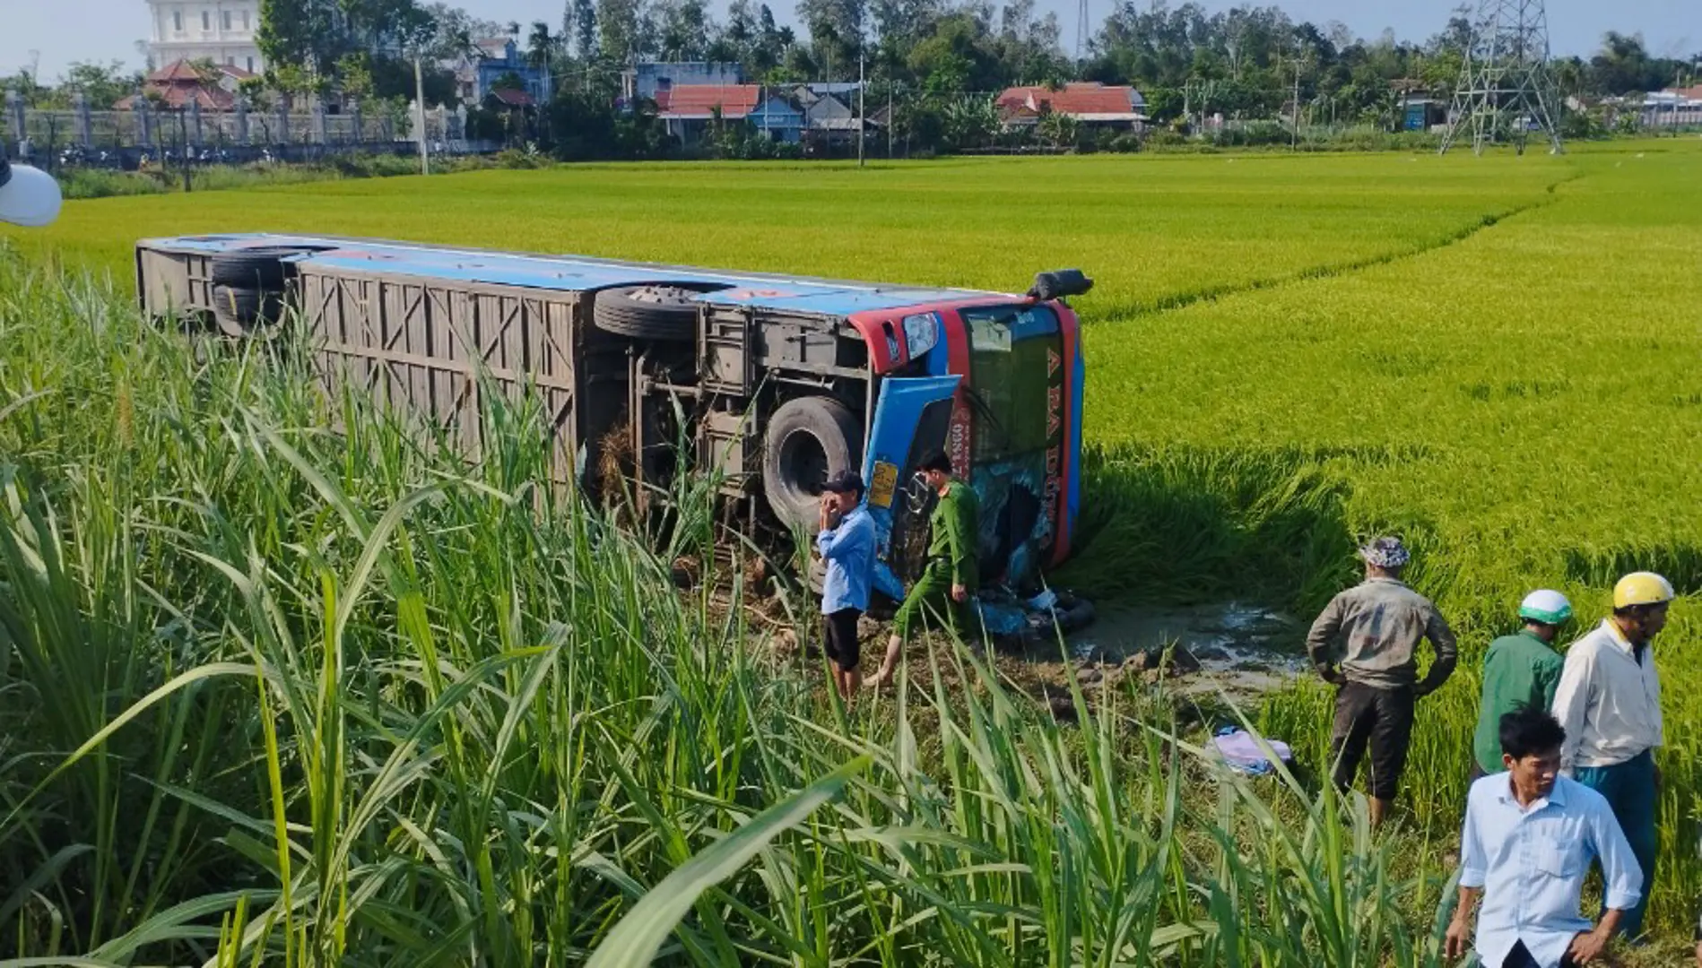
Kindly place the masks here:
MULTIPOLYGON (((454 2, 454 0, 451 0, 454 2)), ((791 20, 793 0, 769 0, 776 19, 791 20)), ((1118 0, 1088 0, 1089 24, 1096 29, 1118 0)), ((1145 0, 1135 0, 1145 2, 1145 0)), ((1171 5, 1179 5, 1173 0, 1171 5)), ((1328 24, 1341 20, 1355 34, 1377 37, 1394 29, 1396 37, 1423 41, 1438 32, 1460 0, 1241 0, 1241 5, 1275 3, 1295 20, 1328 24)), ((460 0, 475 17, 507 22, 562 22, 562 0, 460 0)), ((725 0, 711 0, 725 10, 725 0)), ((1077 0, 1038 0, 1064 26, 1064 44, 1074 48, 1077 0)), ((1236 7, 1236 0, 1203 0, 1210 10, 1236 7)), ((1687 58, 1702 53, 1702 0, 1547 0, 1549 46, 1556 54, 1590 56, 1602 34, 1642 34, 1649 53, 1687 58)), ((124 61, 140 68, 136 41, 146 39, 145 0, 0 0, 0 77, 37 70, 51 83, 71 61, 124 61)))

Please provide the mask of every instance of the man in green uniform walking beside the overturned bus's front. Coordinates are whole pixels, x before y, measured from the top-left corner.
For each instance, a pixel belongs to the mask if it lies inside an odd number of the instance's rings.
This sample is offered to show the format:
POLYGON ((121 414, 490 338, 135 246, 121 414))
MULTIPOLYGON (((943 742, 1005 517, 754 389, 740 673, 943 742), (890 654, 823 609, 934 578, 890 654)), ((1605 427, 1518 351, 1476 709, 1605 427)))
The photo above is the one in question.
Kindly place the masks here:
POLYGON ((963 606, 968 604, 979 584, 975 536, 979 534, 980 502, 975 490, 951 476, 951 458, 941 451, 922 459, 921 473, 928 487, 940 495, 934 512, 928 517, 931 534, 928 565, 922 567, 922 575, 911 585, 911 594, 904 595, 904 604, 892 618, 887 658, 880 663, 880 672, 870 679, 870 686, 880 686, 892 679, 916 619, 943 618, 951 635, 962 636, 963 606))

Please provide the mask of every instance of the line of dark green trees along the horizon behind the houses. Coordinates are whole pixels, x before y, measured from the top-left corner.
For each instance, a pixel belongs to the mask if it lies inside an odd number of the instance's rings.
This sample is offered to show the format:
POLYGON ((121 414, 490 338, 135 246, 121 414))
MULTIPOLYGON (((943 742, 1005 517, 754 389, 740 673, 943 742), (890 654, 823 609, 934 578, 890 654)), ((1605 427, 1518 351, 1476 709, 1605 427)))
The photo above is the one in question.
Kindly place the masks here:
MULTIPOLYGON (((797 19, 797 27, 778 24, 754 0, 732 0, 725 17, 708 0, 565 0, 558 24, 523 29, 419 0, 262 0, 269 70, 250 94, 405 102, 419 58, 426 100, 449 104, 453 65, 477 41, 507 36, 550 73, 555 95, 519 128, 505 116, 475 124, 562 157, 659 150, 665 140, 647 105, 614 107, 621 70, 650 60, 739 63, 747 80, 771 85, 863 77, 877 104, 895 102, 894 131, 950 150, 997 124, 994 92, 1069 80, 1135 85, 1161 126, 1217 114, 1394 128, 1404 97, 1447 97, 1472 43, 1467 9, 1425 39, 1368 39, 1341 24, 1297 22, 1275 5, 1212 14, 1200 3, 1125 0, 1082 51, 1064 49, 1057 15, 1040 14, 1035 0, 800 0, 797 19)), ((1591 99, 1695 83, 1699 63, 1702 53, 1661 58, 1641 36, 1608 32, 1595 54, 1559 58, 1552 70, 1559 94, 1591 99)), ((20 80, 14 87, 26 100, 85 90, 95 104, 140 83, 117 65, 89 63, 73 65, 58 88, 20 80)))

